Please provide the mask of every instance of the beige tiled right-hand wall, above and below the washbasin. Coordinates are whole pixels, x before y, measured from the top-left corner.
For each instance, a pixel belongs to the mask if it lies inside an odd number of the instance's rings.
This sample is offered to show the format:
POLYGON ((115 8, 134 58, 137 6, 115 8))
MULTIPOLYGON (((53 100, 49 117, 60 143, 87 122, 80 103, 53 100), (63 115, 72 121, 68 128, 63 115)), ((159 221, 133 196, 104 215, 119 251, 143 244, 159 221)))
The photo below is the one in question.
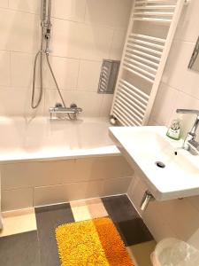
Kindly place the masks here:
MULTIPOLYGON (((190 1, 184 9, 157 93, 150 124, 168 126, 176 117, 177 108, 199 109, 199 73, 188 69, 188 62, 199 35, 198 11, 198 0, 190 1)), ((194 119, 195 115, 182 116, 184 134, 190 129, 194 119)), ((139 177, 134 178, 129 196, 139 210, 145 189, 139 177)), ((199 248, 199 197, 152 202, 142 217, 157 240, 177 237, 199 248)))

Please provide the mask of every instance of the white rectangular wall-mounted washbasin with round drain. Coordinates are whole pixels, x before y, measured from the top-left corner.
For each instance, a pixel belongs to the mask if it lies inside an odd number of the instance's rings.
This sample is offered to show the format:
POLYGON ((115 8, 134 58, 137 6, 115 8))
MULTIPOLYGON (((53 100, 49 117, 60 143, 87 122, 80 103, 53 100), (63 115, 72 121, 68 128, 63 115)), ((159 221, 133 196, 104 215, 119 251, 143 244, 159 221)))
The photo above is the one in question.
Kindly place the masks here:
POLYGON ((199 155, 166 137, 165 127, 111 127, 110 136, 157 200, 199 195, 199 155), (156 162, 165 164, 157 167, 156 162))

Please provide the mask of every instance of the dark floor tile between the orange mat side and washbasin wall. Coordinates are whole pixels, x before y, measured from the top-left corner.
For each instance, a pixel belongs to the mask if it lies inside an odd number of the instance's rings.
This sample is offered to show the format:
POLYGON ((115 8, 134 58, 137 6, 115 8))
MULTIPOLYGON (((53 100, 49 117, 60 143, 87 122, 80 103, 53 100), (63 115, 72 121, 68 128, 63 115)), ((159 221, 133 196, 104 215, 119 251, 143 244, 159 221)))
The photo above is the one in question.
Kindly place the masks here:
POLYGON ((103 198, 103 205, 126 246, 152 240, 147 226, 126 195, 103 198))

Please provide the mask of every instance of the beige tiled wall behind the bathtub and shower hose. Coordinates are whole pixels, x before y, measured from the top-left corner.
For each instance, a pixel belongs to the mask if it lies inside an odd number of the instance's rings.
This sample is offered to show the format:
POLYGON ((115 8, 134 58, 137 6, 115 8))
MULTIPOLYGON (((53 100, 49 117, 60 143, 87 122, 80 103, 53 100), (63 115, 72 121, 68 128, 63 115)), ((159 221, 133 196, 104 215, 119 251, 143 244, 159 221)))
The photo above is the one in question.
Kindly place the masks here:
MULTIPOLYGON (((28 115, 41 0, 0 0, 0 115, 28 115)), ((67 105, 85 116, 110 113, 111 95, 96 93, 102 59, 120 59, 132 0, 52 0, 50 61, 67 105)), ((45 67, 38 114, 59 98, 45 67)), ((37 88, 39 83, 36 82, 37 88)))

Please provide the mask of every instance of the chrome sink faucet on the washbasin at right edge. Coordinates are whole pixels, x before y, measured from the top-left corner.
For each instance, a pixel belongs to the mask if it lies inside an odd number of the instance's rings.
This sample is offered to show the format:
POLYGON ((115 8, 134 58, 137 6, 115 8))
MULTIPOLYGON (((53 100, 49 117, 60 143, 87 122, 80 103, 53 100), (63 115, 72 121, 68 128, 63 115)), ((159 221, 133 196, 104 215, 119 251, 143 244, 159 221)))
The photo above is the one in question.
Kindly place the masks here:
POLYGON ((197 115, 195 123, 192 129, 188 132, 183 143, 183 149, 188 150, 190 153, 198 154, 199 153, 199 142, 195 141, 196 130, 199 126, 199 110, 191 109, 177 109, 176 113, 194 113, 197 115))

